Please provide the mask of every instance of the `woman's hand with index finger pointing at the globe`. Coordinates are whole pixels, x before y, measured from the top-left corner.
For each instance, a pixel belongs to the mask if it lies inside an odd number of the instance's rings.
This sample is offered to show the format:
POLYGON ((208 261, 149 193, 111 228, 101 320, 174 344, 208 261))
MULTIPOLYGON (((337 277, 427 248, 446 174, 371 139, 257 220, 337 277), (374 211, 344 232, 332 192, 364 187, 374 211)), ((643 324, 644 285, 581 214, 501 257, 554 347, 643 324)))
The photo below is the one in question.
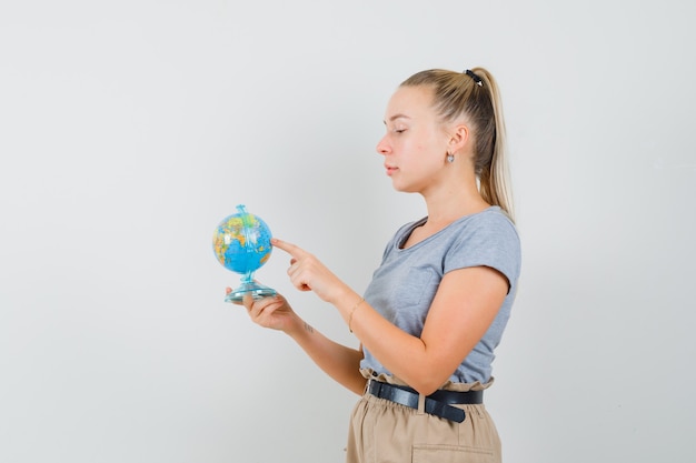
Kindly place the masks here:
POLYGON ((340 298, 341 292, 349 291, 348 286, 327 269, 317 258, 304 249, 274 238, 274 246, 290 254, 288 275, 290 281, 300 291, 314 291, 326 302, 332 303, 340 298))

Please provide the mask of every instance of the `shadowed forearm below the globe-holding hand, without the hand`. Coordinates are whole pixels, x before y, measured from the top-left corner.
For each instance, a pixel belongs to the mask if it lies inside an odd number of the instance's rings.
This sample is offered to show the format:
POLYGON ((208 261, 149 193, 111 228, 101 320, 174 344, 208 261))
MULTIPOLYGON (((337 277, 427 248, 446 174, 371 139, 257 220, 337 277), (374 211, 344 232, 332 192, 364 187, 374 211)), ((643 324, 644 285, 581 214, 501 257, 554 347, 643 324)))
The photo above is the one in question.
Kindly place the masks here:
POLYGON ((358 395, 364 393, 366 380, 359 370, 361 351, 329 340, 306 322, 288 334, 336 382, 358 395))

